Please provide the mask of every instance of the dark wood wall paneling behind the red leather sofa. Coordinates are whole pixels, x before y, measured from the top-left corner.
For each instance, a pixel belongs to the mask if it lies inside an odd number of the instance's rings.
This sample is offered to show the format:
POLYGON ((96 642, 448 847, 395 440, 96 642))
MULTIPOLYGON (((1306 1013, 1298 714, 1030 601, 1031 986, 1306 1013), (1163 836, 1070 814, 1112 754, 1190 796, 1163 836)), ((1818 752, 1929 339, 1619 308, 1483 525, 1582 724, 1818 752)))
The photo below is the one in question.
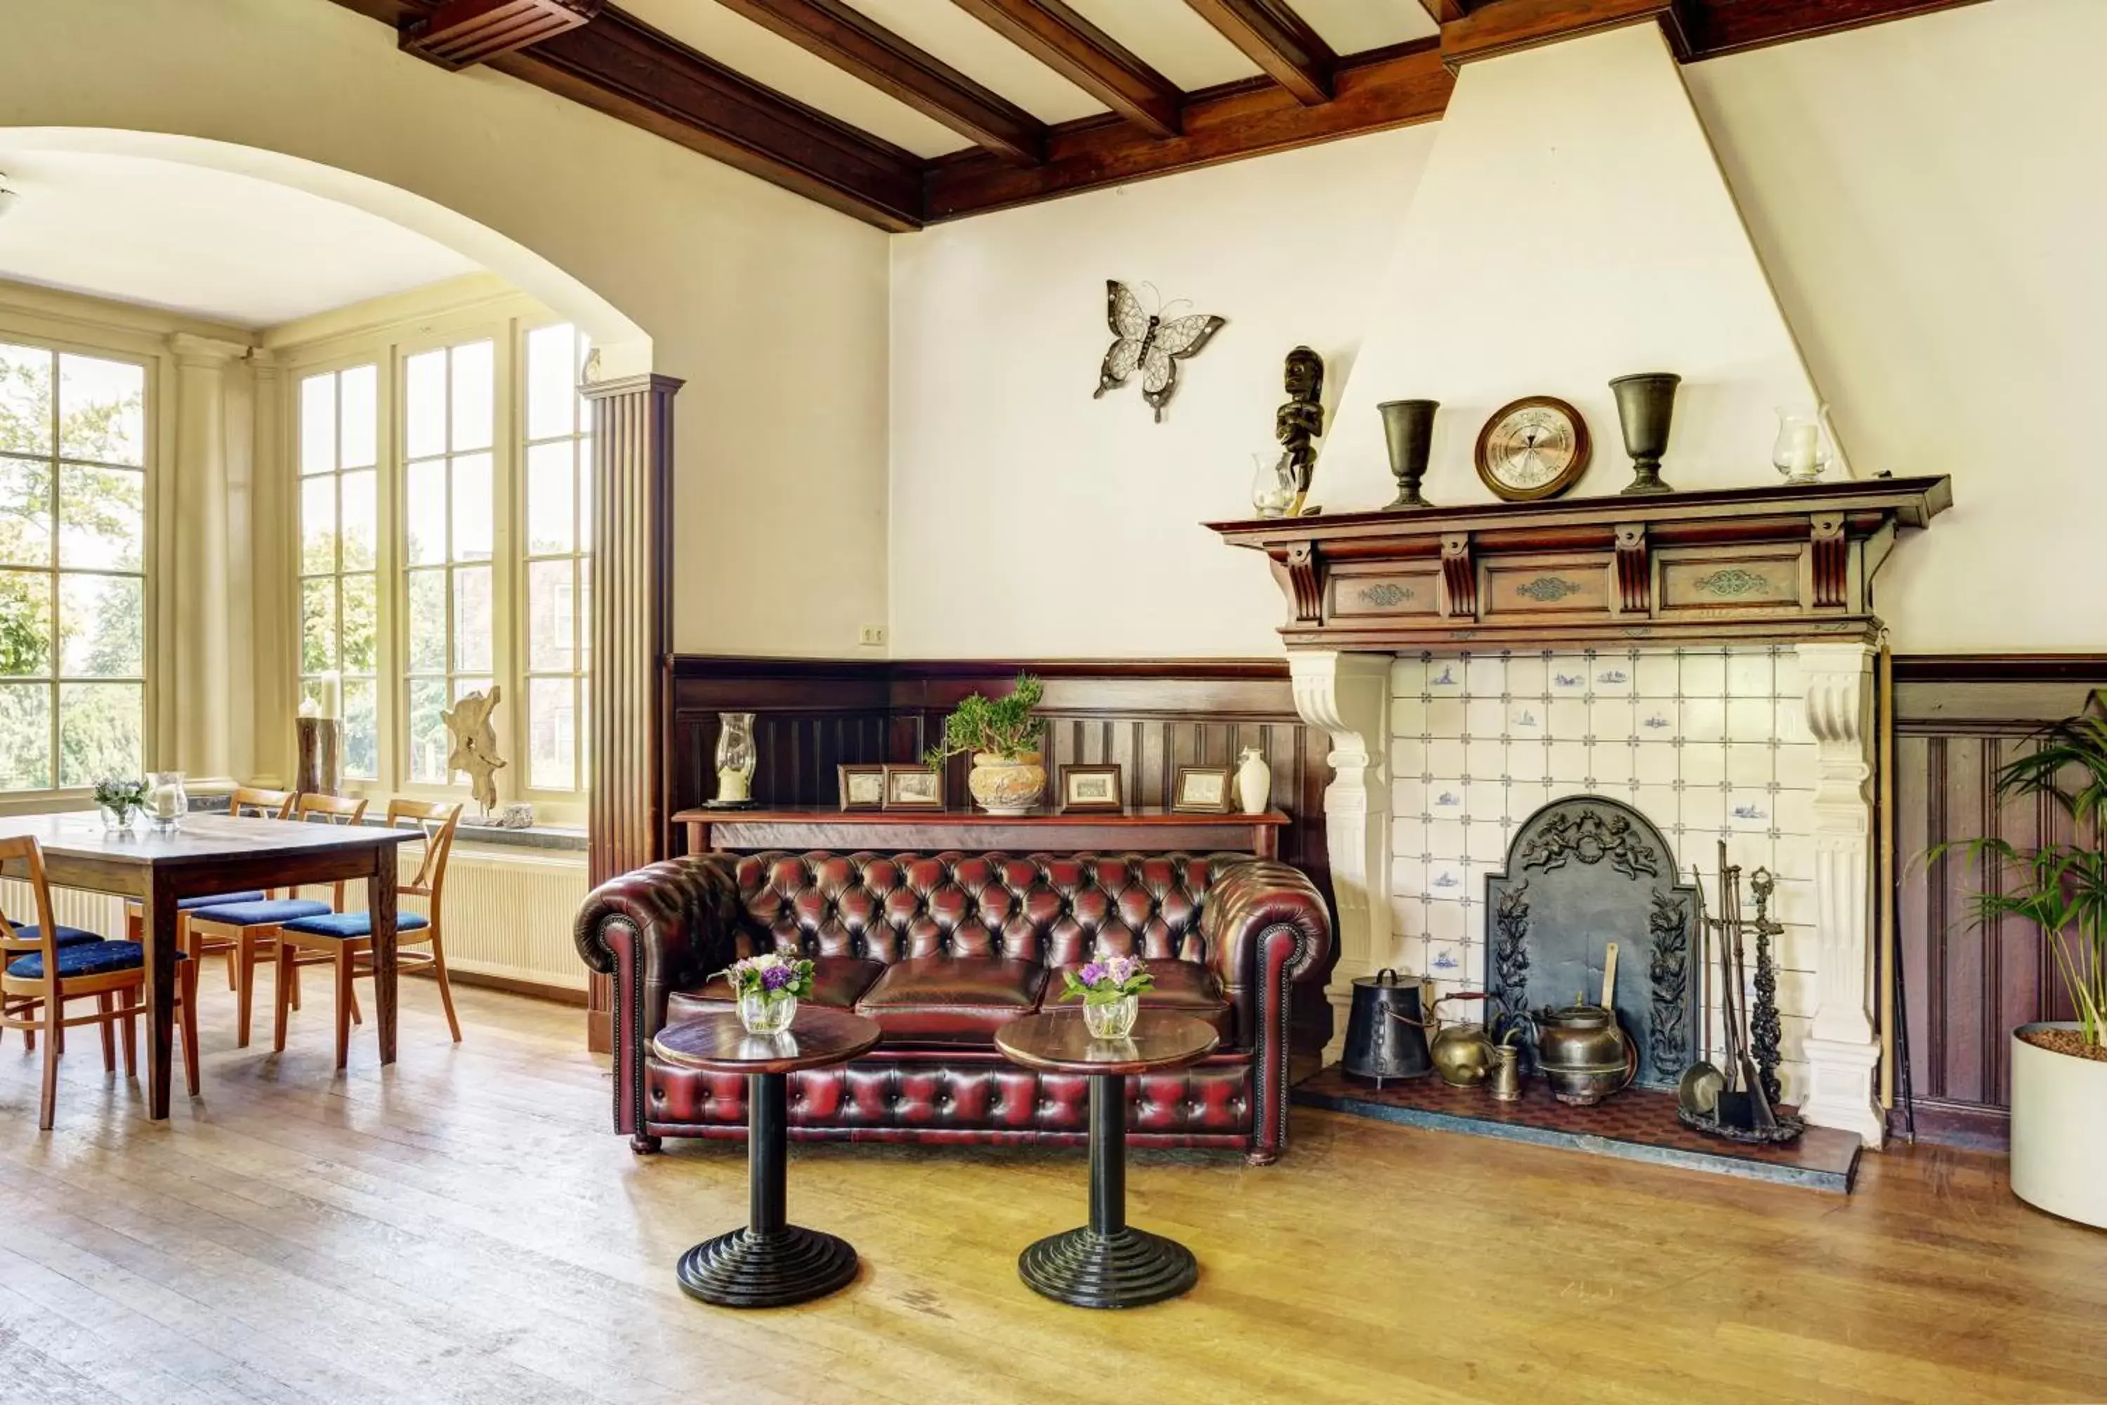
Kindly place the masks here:
MULTIPOLYGON (((834 767, 912 763, 940 735, 944 714, 967 693, 1007 689, 1018 672, 1045 680, 1047 773, 1062 765, 1119 765, 1125 800, 1165 805, 1178 767, 1235 767, 1262 746, 1273 767, 1273 807, 1292 824, 1281 859, 1311 874, 1332 902, 1323 836, 1330 739, 1296 716, 1287 664, 1237 661, 872 661, 727 659, 668 661, 670 714, 664 815, 714 792, 718 712, 752 712, 754 798, 763 805, 839 805, 834 767)), ((946 796, 971 805, 954 756, 946 796)), ((666 834, 666 853, 676 853, 666 834)), ((1332 1011, 1317 984, 1296 990, 1294 1043, 1321 1049, 1332 1011)))

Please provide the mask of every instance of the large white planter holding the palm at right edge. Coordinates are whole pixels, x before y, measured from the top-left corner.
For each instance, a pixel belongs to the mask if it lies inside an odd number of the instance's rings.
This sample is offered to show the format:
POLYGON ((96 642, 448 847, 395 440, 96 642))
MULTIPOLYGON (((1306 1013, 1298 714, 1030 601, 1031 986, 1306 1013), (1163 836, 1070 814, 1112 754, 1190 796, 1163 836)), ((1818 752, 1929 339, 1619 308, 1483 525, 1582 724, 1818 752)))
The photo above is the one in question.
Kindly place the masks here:
POLYGON ((2012 1194, 2052 1215, 2107 1228, 2107 1064, 2035 1049, 2012 1032, 2012 1194))

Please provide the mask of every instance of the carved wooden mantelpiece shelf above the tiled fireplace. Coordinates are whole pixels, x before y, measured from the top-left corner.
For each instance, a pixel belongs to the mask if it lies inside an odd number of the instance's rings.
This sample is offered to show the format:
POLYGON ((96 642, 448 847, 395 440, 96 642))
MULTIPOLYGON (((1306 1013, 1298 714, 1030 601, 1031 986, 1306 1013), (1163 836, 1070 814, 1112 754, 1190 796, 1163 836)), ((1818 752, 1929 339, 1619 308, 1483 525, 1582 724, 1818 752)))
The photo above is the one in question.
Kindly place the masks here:
POLYGON ((1867 640, 1949 478, 1209 522, 1266 554, 1304 649, 1867 640))

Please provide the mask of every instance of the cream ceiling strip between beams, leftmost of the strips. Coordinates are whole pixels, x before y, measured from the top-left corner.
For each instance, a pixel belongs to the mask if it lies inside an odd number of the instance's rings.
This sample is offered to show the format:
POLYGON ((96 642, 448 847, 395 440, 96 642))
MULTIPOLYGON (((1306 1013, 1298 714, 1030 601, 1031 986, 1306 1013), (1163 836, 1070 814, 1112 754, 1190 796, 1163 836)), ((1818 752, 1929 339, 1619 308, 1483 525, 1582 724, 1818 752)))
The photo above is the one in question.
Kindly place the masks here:
MULTIPOLYGON (((950 4, 938 6, 933 0, 912 2, 929 8, 952 8, 950 4)), ((716 0, 622 0, 622 8, 763 86, 917 156, 942 156, 971 145, 942 122, 925 118, 900 99, 879 93, 862 78, 805 53, 744 15, 733 15, 716 0)))

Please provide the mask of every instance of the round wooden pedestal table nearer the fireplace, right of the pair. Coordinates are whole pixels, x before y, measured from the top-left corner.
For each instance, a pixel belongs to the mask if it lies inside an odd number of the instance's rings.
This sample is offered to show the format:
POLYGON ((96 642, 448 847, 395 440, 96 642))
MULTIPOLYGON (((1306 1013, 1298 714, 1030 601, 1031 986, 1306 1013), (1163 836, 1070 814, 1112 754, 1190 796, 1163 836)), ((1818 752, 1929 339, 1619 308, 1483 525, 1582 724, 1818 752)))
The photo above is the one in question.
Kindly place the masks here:
POLYGON ((1127 1074, 1184 1068, 1214 1053, 1203 1020, 1144 1009, 1127 1038, 1091 1038, 1081 1009, 1028 1015, 995 1032, 1011 1064, 1089 1076, 1089 1224, 1018 1255, 1018 1277, 1077 1308, 1138 1308, 1193 1287, 1199 1264, 1178 1241, 1127 1224, 1127 1074))

